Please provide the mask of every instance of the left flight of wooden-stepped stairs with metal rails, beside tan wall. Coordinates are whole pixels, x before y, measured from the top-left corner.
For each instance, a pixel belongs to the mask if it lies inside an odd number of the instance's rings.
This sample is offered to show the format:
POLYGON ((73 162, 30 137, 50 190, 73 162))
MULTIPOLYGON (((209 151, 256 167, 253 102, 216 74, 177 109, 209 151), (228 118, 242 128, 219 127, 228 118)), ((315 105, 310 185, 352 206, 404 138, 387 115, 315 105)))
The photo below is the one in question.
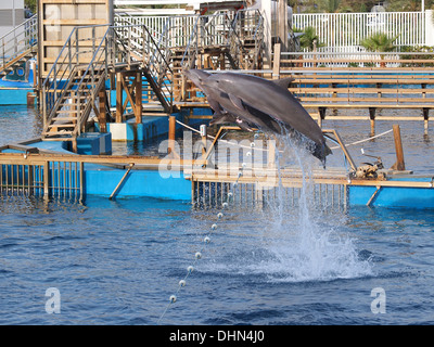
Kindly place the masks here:
POLYGON ((99 99, 106 97, 101 92, 105 94, 111 63, 111 28, 93 26, 91 38, 79 39, 80 30, 88 28, 73 29, 41 87, 42 140, 72 141, 73 150, 90 113, 101 115, 108 111, 99 99))

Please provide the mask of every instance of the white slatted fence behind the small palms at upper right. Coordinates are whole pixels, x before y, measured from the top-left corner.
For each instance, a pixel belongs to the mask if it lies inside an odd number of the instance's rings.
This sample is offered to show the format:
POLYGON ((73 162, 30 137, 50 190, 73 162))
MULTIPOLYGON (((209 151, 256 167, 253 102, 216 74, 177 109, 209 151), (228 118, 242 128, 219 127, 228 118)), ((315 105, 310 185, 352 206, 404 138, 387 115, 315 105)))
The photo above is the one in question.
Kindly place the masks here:
MULTIPOLYGON (((395 44, 425 46, 426 21, 432 11, 383 13, 309 13, 294 14, 293 28, 315 27, 319 41, 328 48, 350 52, 374 33, 397 36, 395 44)), ((431 26, 430 26, 431 27, 431 26)))

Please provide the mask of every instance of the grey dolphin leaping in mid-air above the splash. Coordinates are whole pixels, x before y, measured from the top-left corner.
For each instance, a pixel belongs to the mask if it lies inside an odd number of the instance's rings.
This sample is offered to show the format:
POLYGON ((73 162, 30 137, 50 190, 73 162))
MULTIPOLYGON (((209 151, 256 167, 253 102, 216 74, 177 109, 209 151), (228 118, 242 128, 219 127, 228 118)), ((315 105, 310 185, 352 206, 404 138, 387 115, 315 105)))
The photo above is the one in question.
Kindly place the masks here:
POLYGON ((210 75, 200 69, 190 69, 186 75, 207 95, 215 111, 214 124, 235 119, 241 128, 256 126, 275 133, 295 130, 312 142, 310 151, 326 163, 331 151, 317 123, 288 90, 289 79, 276 82, 238 73, 210 75))

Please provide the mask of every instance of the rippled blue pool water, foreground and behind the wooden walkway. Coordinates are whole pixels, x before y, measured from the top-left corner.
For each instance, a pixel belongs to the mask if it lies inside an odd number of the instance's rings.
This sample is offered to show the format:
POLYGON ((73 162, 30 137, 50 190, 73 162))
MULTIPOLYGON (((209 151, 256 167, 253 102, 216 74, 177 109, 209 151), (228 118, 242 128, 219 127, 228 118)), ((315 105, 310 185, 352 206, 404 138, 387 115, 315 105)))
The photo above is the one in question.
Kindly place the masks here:
MULTIPOLYGON (((37 136, 38 121, 34 111, 0 108, 0 145, 37 136)), ((369 136, 368 124, 329 126, 346 142, 369 136)), ((407 127, 407 166, 433 172, 432 129, 407 127)), ((391 143, 365 149, 393 162, 391 143)), ((153 198, 0 196, 0 324, 434 323, 432 210, 323 210, 307 198, 218 213, 153 198)))

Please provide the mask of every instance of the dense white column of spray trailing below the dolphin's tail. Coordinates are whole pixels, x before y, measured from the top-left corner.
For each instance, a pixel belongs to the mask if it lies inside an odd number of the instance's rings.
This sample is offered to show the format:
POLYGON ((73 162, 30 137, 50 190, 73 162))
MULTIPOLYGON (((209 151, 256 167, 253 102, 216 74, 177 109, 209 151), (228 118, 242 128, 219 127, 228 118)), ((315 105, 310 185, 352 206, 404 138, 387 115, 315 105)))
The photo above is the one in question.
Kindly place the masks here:
MULTIPOLYGON (((266 223, 263 235, 269 257, 255 269, 265 271, 272 281, 284 282, 329 281, 371 274, 371 264, 359 259, 354 241, 340 230, 344 216, 335 211, 328 214, 316 206, 309 179, 310 154, 304 155, 288 137, 284 144, 295 154, 293 157, 302 169, 303 187, 295 207, 288 204, 281 193, 283 189, 279 188, 278 198, 264 216, 264 221, 271 221, 266 223)), ((279 154, 277 162, 280 166, 285 165, 279 154)))

